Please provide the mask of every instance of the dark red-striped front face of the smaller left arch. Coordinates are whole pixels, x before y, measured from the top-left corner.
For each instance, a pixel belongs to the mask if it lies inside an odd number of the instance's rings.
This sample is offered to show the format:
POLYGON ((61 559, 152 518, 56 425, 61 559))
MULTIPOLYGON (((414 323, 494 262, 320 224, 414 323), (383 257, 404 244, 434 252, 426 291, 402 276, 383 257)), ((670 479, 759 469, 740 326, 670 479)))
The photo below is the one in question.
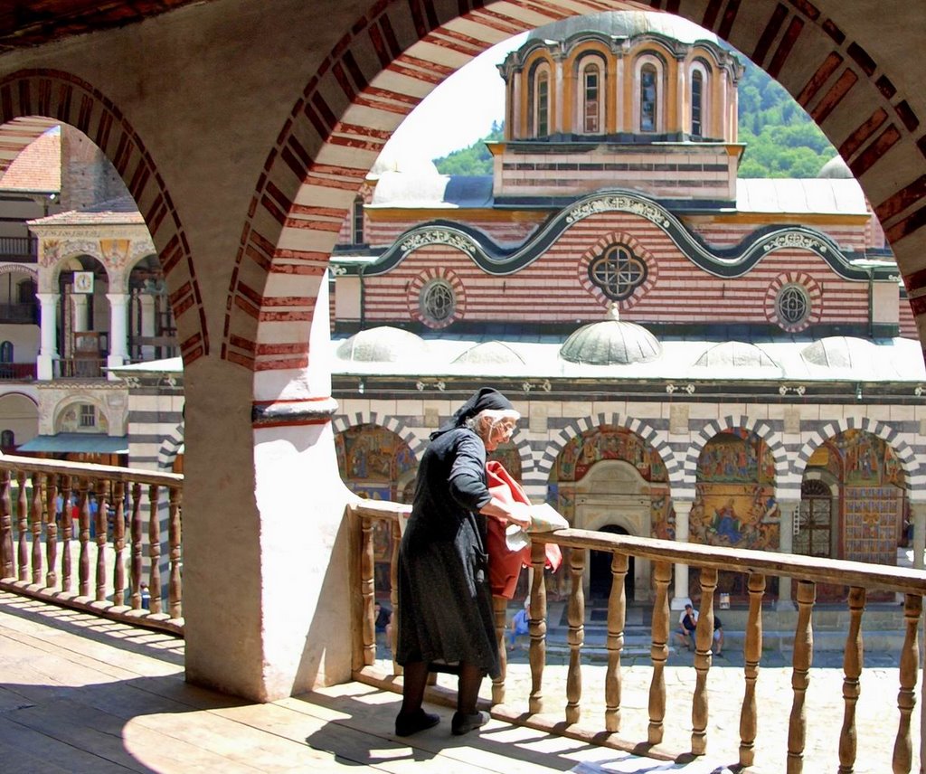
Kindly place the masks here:
POLYGON ((0 80, 0 121, 41 116, 76 127, 112 162, 156 244, 187 365, 209 347, 206 310, 180 215, 154 159, 106 95, 69 72, 24 69, 0 80))

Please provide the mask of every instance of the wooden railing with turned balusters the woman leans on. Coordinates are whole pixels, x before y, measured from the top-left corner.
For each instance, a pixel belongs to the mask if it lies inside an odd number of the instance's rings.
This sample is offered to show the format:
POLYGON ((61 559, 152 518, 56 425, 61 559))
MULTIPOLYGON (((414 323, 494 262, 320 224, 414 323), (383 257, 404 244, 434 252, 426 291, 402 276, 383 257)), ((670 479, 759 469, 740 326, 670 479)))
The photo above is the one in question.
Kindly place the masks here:
MULTIPOLYGON (((378 501, 362 501, 348 506, 348 517, 352 520, 355 562, 352 567, 353 582, 359 593, 353 595, 353 620, 357 622, 354 640, 355 679, 378 685, 390 690, 400 690, 395 678, 401 668, 393 664, 392 674, 374 667, 376 638, 374 629, 374 581, 373 581, 373 524, 385 519, 390 524, 394 537, 393 552, 393 596, 394 615, 399 614, 395 595, 395 562, 398 553, 398 520, 407 514, 408 506, 378 501)), ((506 701, 506 600, 495 600, 495 627, 499 640, 499 651, 503 660, 502 677, 494 680, 492 705, 494 715, 510 722, 547 730, 554 733, 576 736, 590 743, 606 744, 621 749, 631 749, 639 740, 621 740, 622 676, 621 651, 624 643, 626 599, 624 579, 628 572, 631 556, 649 559, 653 563, 654 599, 651 621, 650 662, 651 677, 646 702, 648 730, 644 742, 648 754, 653 755, 652 745, 663 742, 665 733, 667 691, 665 680, 666 662, 669 657, 669 637, 674 627, 670 625, 669 583, 672 566, 676 564, 700 568, 700 618, 695 631, 694 653, 694 696, 691 705, 690 752, 704 755, 707 751, 709 732, 709 711, 707 675, 711 668, 714 624, 714 594, 717 589, 718 571, 740 571, 748 578, 749 609, 745 626, 744 643, 744 691, 739 721, 739 765, 741 768, 758 765, 756 761, 758 717, 757 679, 762 661, 762 603, 768 576, 788 577, 796 581, 797 622, 794 632, 794 655, 792 671, 792 700, 790 717, 787 719, 786 771, 797 774, 804 770, 805 740, 807 735, 807 714, 805 699, 809 682, 809 669, 813 662, 813 627, 811 613, 815 603, 817 583, 839 583, 849 587, 847 607, 849 626, 845 633, 843 667, 843 718, 838 739, 839 771, 855 770, 857 758, 856 708, 859 697, 859 678, 863 664, 862 617, 868 591, 881 590, 904 594, 904 640, 901 647, 899 686, 896 706, 898 722, 893 734, 892 768, 895 774, 908 772, 913 767, 913 740, 911 738, 911 717, 916 704, 916 686, 920 676, 920 643, 918 631, 922 612, 922 597, 926 594, 926 572, 907 568, 893 568, 832 559, 807 556, 793 556, 761 551, 745 551, 731 548, 712 547, 694 543, 674 543, 663 540, 637 538, 627 535, 613 535, 605 532, 584 530, 560 530, 548 534, 533 535, 532 540, 532 586, 530 620, 530 669, 531 693, 526 712, 511 711, 502 705, 506 701), (566 705, 561 720, 550 722, 544 713, 544 666, 546 663, 546 591, 544 586, 544 543, 557 543, 569 547, 570 590, 568 601, 569 667, 566 679, 566 705), (605 677, 604 728, 582 729, 582 648, 585 602, 582 592, 582 576, 585 557, 590 550, 611 554, 611 589, 607 607, 607 670, 605 677)), ((676 613, 677 615, 677 613, 676 613)), ((883 690, 888 690, 886 687, 883 690)), ((926 690, 926 689, 924 689, 926 690)), ((440 692, 433 695, 441 700, 440 692)), ((732 697, 728 697, 729 698, 732 697)), ((444 697, 452 700, 452 697, 444 697)), ((776 718, 776 723, 782 721, 776 718)), ((866 740, 883 748, 891 732, 888 718, 883 718, 883 735, 866 740)), ((921 747, 922 745, 920 745, 921 747)), ((920 749, 920 757, 923 755, 920 749)), ((657 756, 666 756, 658 755, 657 756)), ((921 766, 921 764, 920 764, 921 766)), ((918 770, 923 770, 917 767, 918 770)), ((766 769, 763 769, 766 770, 766 769)), ((885 769, 886 770, 886 769, 885 769)))

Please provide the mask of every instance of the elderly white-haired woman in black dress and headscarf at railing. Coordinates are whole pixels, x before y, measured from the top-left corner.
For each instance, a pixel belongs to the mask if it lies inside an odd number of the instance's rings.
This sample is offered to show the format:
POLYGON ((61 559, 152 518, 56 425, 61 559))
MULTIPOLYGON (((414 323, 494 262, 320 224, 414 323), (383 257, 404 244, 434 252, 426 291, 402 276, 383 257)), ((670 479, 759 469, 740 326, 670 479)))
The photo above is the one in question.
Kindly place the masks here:
POLYGON ((421 458, 411 518, 398 560, 398 642, 404 668, 395 733, 407 736, 439 721, 421 704, 431 668, 457 672, 455 734, 482 726, 476 703, 482 678, 500 673, 485 518, 531 523, 527 506, 505 503, 486 485, 485 455, 506 442, 519 414, 502 394, 483 387, 431 435, 421 458))

